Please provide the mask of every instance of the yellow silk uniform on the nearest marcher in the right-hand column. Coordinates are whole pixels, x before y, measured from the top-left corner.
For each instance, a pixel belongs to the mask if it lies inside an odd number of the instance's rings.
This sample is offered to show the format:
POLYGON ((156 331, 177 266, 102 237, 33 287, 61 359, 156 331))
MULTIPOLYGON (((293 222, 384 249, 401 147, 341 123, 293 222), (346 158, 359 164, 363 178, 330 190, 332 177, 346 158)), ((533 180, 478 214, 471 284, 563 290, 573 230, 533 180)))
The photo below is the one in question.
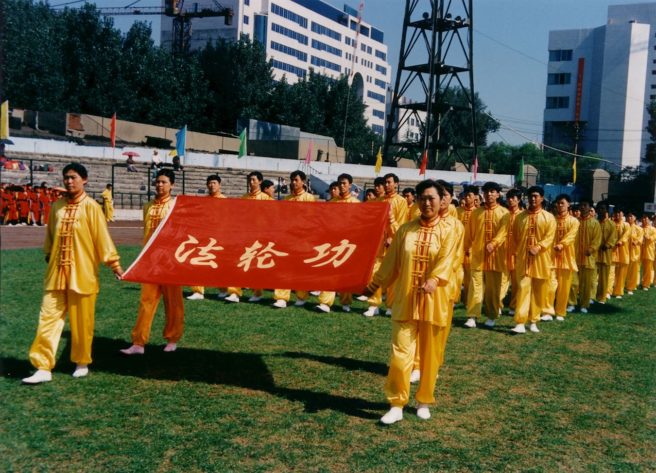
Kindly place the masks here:
POLYGON ((551 252, 556 233, 556 219, 543 208, 531 212, 524 210, 513 224, 513 240, 517 260, 517 308, 514 321, 537 323, 546 305, 548 282, 551 279, 551 252), (529 250, 537 246, 539 252, 529 250))

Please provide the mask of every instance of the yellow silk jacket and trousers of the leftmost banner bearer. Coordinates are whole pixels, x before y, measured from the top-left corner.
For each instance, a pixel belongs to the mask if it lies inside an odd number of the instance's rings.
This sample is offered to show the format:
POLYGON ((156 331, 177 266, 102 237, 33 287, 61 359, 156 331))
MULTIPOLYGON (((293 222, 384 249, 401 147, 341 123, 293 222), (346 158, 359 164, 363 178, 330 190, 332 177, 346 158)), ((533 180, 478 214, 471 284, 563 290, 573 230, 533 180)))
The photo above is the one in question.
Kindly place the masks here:
POLYGON ((43 252, 50 256, 43 281, 39 325, 30 348, 36 369, 52 371, 66 313, 71 330, 71 361, 91 363, 98 265, 115 269, 119 256, 98 202, 83 192, 75 200, 52 204, 43 252))

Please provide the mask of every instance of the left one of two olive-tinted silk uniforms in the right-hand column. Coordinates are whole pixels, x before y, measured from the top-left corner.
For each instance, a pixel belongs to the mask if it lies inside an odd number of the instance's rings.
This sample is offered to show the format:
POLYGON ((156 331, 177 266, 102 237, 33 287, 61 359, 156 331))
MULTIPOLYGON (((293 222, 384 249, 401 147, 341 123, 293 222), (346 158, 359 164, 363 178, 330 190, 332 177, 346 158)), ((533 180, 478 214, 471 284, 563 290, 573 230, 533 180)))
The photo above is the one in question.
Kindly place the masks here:
MULTIPOLYGON (((592 272, 597 265, 597 252, 602 242, 602 229, 599 222, 588 214, 585 218, 579 217, 579 233, 574 242, 576 250, 576 264, 579 268, 578 287, 581 308, 590 307, 590 292, 592 290, 592 272), (586 256, 586 252, 590 256, 586 256)), ((574 284, 572 284, 574 287, 574 284)))

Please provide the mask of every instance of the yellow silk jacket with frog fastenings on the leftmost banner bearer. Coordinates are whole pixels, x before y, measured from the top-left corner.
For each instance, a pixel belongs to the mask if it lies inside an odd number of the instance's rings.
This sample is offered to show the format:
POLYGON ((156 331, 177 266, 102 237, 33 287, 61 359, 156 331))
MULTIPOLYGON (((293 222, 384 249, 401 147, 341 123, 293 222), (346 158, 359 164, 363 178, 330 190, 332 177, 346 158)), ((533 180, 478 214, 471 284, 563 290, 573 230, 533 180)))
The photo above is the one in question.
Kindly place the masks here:
POLYGON ((98 265, 119 266, 102 208, 85 192, 52 204, 43 252, 50 256, 44 290, 98 294, 98 265))

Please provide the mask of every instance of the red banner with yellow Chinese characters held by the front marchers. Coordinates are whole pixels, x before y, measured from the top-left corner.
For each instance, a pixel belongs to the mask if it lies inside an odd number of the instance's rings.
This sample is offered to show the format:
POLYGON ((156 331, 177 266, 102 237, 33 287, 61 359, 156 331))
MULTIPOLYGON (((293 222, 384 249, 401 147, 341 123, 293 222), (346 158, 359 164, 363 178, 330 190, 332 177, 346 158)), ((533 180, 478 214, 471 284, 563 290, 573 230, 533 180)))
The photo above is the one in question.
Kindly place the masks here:
POLYGON ((361 292, 389 212, 387 202, 178 196, 123 279, 361 292))

